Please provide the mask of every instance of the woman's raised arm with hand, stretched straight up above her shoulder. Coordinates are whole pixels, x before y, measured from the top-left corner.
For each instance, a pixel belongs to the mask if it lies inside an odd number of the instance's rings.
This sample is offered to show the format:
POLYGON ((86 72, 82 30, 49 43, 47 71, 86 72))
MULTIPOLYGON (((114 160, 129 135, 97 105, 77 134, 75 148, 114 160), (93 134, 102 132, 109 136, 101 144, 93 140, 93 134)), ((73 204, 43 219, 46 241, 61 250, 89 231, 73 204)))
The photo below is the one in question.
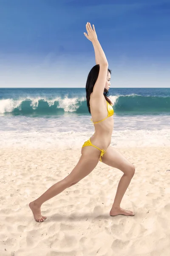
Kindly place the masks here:
POLYGON ((93 29, 91 27, 91 24, 88 22, 86 24, 86 29, 88 32, 88 35, 84 33, 85 37, 90 40, 94 46, 94 51, 95 51, 95 56, 97 63, 100 66, 99 70, 99 76, 98 79, 94 85, 93 93, 96 96, 101 96, 103 95, 104 89, 105 89, 105 83, 107 79, 107 74, 108 74, 108 61, 105 56, 105 52, 103 51, 96 35, 95 27, 93 25, 93 29))

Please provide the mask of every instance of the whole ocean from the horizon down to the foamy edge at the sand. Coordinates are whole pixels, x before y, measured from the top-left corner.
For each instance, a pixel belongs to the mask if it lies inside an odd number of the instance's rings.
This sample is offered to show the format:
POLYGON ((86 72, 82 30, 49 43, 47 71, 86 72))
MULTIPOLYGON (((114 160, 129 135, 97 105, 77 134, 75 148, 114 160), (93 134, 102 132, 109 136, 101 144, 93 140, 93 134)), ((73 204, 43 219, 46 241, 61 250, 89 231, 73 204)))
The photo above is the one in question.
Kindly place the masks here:
MULTIPOLYGON (((0 88, 0 147, 81 149, 85 88, 0 88)), ((110 88, 115 147, 170 146, 170 88, 110 88)))

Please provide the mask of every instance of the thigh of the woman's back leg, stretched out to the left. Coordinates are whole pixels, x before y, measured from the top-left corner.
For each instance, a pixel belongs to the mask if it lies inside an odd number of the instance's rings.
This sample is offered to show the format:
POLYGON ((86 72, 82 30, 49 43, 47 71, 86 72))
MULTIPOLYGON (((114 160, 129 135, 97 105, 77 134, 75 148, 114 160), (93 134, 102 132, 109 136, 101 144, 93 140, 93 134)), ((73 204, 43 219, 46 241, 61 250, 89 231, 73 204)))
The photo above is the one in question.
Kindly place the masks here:
POLYGON ((98 162, 98 157, 81 155, 79 162, 74 167, 72 172, 66 177, 66 179, 71 181, 71 183, 79 182, 79 180, 82 180, 94 170, 98 162))

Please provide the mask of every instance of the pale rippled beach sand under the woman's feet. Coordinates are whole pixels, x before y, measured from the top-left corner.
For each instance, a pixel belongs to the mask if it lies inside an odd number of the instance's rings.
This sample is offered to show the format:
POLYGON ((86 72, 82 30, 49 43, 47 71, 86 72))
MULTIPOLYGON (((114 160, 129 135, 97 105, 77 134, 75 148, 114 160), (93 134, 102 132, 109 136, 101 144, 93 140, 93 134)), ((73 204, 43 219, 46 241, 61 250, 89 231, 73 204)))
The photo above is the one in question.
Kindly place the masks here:
POLYGON ((122 200, 135 216, 111 217, 122 172, 100 163, 42 205, 30 201, 64 178, 81 150, 0 148, 0 256, 170 255, 170 147, 118 148, 136 166, 122 200))

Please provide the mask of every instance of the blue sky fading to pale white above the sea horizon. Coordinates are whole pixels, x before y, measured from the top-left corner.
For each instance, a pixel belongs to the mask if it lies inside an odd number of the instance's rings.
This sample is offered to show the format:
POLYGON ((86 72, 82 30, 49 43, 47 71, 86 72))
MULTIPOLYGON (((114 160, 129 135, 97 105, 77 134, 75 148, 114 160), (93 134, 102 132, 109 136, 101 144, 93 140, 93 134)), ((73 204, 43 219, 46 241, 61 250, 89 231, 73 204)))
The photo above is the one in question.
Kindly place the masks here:
POLYGON ((112 87, 170 87, 170 0, 0 0, 0 87, 85 87, 87 21, 112 87))

